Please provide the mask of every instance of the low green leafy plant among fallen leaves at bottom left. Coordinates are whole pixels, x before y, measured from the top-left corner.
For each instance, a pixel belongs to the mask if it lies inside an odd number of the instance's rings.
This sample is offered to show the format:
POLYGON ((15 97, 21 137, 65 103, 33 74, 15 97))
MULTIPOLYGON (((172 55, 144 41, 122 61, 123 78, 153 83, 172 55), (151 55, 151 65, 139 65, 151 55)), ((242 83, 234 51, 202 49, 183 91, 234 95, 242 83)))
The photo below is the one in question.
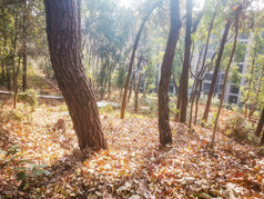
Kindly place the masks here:
POLYGON ((16 176, 17 181, 20 182, 19 190, 23 189, 28 178, 50 173, 44 170, 47 166, 34 165, 31 160, 23 159, 24 155, 19 149, 19 146, 11 147, 7 152, 0 150, 0 153, 3 155, 0 169, 7 169, 12 176, 16 176))

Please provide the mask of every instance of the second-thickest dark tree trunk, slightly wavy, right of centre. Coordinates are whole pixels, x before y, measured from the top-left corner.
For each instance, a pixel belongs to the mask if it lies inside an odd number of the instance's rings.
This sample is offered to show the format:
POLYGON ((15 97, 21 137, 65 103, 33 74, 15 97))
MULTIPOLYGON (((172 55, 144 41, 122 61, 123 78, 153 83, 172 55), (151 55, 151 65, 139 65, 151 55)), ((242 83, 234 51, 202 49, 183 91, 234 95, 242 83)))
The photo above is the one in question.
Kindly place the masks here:
POLYGON ((161 66, 161 80, 159 83, 159 133, 162 146, 172 142, 167 92, 180 29, 180 0, 171 0, 171 28, 161 66))

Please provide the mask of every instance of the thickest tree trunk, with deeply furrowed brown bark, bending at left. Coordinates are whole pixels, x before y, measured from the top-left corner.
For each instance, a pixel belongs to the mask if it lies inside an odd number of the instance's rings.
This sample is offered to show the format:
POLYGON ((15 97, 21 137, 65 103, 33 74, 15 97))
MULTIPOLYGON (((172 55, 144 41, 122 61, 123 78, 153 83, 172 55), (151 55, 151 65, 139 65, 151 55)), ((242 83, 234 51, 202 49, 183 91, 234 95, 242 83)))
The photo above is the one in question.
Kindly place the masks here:
POLYGON ((44 0, 44 6, 51 62, 80 149, 104 149, 97 101, 81 60, 80 1, 44 0))

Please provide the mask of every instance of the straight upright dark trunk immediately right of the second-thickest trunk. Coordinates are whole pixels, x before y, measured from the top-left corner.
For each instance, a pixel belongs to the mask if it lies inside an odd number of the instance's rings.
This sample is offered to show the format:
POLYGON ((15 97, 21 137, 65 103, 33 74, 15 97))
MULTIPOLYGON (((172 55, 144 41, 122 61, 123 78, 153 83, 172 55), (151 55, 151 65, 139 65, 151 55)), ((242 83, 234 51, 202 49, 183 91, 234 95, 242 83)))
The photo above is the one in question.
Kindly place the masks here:
POLYGON ((183 62, 183 72, 182 72, 182 106, 181 106, 181 117, 180 122, 185 123, 186 112, 187 112, 187 81, 189 81, 189 69, 191 61, 191 44, 192 44, 192 0, 186 1, 186 31, 185 31, 185 52, 184 52, 184 62, 183 62))

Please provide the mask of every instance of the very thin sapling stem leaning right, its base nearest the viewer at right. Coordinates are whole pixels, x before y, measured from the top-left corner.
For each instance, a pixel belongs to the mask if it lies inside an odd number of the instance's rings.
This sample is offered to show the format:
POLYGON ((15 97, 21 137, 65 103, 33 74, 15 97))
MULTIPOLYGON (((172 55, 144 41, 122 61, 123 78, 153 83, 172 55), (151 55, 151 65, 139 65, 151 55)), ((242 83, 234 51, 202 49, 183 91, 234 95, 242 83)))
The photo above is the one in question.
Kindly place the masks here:
POLYGON ((232 52, 231 52, 231 54, 230 54, 230 61, 229 61, 229 63, 227 63, 227 66, 226 66, 226 70, 225 70, 225 74, 224 74, 223 90, 222 90, 222 94, 221 94, 219 111, 217 111, 217 115, 216 115, 216 118, 215 118, 215 122, 214 122, 213 137, 212 137, 212 143, 211 143, 212 147, 213 147, 213 145, 214 145, 214 139, 215 139, 217 122, 219 122, 221 109, 222 109, 223 101, 224 101, 224 93, 225 93, 225 87, 226 87, 226 82, 227 82, 227 77, 229 77, 230 67, 231 67, 231 63, 232 63, 232 61, 233 61, 233 57, 234 57, 234 54, 235 54, 236 42, 237 42, 237 36, 238 36, 238 20, 240 20, 241 10, 242 10, 242 4, 240 4, 240 6, 237 7, 237 9, 234 11, 234 12, 235 12, 235 36, 234 36, 234 43, 233 43, 232 52))

